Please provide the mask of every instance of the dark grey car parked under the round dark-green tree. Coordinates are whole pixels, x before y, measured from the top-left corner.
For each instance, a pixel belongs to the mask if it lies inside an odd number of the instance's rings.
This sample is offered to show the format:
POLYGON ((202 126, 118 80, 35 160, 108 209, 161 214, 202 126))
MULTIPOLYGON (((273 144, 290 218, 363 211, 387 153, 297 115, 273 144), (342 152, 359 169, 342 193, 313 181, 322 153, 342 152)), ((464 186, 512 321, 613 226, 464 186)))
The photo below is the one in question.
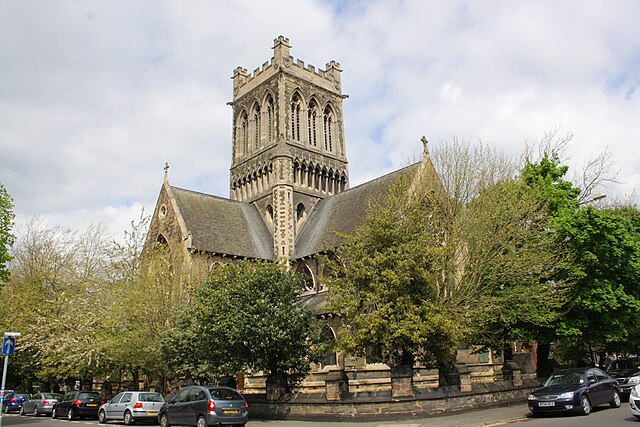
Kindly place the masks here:
POLYGON ((190 425, 207 427, 227 424, 244 426, 249 405, 229 387, 191 386, 176 393, 160 408, 160 427, 190 425))

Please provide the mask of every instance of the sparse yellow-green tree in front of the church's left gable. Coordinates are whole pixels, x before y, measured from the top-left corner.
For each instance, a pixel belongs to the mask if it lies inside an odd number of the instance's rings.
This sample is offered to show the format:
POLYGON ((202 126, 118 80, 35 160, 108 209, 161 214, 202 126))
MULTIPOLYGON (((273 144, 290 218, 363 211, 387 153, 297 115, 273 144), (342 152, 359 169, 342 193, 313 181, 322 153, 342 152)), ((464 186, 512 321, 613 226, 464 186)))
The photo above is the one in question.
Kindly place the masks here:
POLYGON ((103 320, 100 348, 110 369, 127 372, 133 387, 141 374, 171 371, 161 337, 173 326, 173 312, 189 302, 187 277, 176 274, 165 244, 143 250, 149 217, 137 221, 113 241, 109 250, 109 282, 98 300, 108 313, 103 320))

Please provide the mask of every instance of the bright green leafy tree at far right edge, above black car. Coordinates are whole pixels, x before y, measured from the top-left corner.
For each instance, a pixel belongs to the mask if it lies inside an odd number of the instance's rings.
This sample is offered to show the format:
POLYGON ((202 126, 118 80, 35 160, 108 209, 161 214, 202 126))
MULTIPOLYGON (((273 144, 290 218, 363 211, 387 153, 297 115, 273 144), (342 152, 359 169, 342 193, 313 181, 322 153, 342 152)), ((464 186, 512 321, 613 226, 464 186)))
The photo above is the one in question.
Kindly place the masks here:
POLYGON ((588 206, 560 218, 576 277, 558 327, 569 355, 635 350, 640 324, 640 212, 588 206), (630 345, 629 345, 630 344, 630 345))

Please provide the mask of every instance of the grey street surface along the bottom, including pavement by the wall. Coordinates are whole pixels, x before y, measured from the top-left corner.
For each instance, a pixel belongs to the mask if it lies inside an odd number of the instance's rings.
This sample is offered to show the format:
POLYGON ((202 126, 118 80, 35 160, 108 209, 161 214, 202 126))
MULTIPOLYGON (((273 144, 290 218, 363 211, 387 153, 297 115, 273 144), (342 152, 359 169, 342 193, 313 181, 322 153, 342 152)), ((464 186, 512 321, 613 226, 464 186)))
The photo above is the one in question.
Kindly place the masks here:
MULTIPOLYGON (((109 423, 109 425, 124 425, 109 423)), ((546 418, 530 418, 526 405, 492 408, 482 411, 466 412, 432 418, 399 419, 397 421, 367 422, 326 422, 326 421, 263 421, 251 420, 247 427, 487 427, 487 426, 520 426, 523 427, 618 427, 638 426, 640 421, 631 415, 629 404, 624 402, 620 408, 595 408, 591 415, 554 416, 546 418)), ((53 420, 51 418, 34 418, 17 414, 4 415, 0 427, 99 427, 93 420, 53 420)))

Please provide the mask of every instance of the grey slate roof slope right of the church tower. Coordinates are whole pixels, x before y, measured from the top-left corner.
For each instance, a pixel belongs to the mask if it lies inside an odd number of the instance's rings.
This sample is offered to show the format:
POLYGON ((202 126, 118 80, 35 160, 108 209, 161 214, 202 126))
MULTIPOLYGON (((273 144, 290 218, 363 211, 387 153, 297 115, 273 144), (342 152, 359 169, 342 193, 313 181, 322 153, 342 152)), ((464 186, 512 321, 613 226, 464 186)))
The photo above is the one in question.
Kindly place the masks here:
POLYGON ((361 225, 366 219, 369 201, 384 194, 401 174, 419 165, 415 163, 318 201, 298 234, 293 257, 303 258, 340 246, 342 239, 336 233, 350 233, 361 225))

